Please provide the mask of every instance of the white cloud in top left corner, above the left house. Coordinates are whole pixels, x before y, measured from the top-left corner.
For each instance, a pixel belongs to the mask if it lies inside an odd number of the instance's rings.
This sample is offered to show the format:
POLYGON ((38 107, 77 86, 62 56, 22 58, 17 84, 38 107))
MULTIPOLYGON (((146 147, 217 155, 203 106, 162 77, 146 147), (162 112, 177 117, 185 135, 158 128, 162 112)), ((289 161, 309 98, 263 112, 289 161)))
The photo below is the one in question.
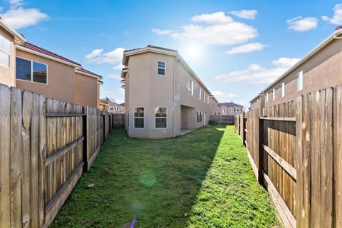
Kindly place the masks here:
POLYGON ((24 9, 22 7, 9 9, 2 18, 14 29, 26 28, 34 26, 40 21, 48 19, 48 15, 42 13, 38 9, 24 9))

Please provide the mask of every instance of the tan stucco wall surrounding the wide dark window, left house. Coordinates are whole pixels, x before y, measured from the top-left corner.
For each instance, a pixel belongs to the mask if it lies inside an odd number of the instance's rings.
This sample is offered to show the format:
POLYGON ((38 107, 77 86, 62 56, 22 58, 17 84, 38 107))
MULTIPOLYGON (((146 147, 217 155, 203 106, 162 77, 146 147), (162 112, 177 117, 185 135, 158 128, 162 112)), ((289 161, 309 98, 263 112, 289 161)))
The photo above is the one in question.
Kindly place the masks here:
POLYGON ((75 67, 17 49, 16 56, 48 65, 48 83, 16 80, 16 87, 75 103, 75 67))

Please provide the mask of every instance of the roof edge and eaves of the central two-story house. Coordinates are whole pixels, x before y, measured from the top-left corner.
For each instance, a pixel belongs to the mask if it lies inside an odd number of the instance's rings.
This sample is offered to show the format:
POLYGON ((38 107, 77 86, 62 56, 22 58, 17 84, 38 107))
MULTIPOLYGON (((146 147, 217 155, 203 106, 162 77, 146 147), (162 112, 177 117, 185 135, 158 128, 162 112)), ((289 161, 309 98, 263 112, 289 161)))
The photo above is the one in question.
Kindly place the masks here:
MULTIPOLYGON (((153 45, 149 44, 145 48, 135 48, 135 49, 125 50, 123 52, 123 65, 124 66, 128 65, 128 57, 129 56, 133 56, 133 55, 137 55, 137 54, 145 53, 145 52, 162 53, 162 54, 169 55, 169 56, 176 56, 177 59, 180 61, 180 63, 182 63, 183 66, 185 66, 187 71, 189 71, 192 74, 192 76, 194 76, 196 78, 196 80, 199 82, 199 84, 205 90, 207 90, 208 93, 210 94, 209 88, 207 88, 207 86, 204 85, 204 83, 199 79, 199 77, 196 75, 196 73, 194 71, 192 71, 192 68, 190 68, 190 66, 187 64, 187 62, 185 62, 185 60, 182 58, 182 56, 180 56, 180 53, 178 53, 178 51, 175 49, 162 48, 160 46, 153 46, 153 45)), ((121 77, 123 77, 123 74, 124 74, 124 71, 121 72, 121 77)))

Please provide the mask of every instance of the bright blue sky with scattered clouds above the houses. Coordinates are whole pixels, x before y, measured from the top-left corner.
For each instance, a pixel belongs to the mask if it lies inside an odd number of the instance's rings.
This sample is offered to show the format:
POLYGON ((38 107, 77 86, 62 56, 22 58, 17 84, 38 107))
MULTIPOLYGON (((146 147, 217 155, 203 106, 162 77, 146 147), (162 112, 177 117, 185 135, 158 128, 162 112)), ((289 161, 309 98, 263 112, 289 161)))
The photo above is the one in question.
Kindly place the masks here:
MULTIPOLYGON (((104 77, 101 97, 124 101, 127 48, 176 48, 220 102, 249 100, 342 24, 339 1, 3 0, 26 40, 104 77)), ((340 5, 341 4, 341 5, 340 5)))

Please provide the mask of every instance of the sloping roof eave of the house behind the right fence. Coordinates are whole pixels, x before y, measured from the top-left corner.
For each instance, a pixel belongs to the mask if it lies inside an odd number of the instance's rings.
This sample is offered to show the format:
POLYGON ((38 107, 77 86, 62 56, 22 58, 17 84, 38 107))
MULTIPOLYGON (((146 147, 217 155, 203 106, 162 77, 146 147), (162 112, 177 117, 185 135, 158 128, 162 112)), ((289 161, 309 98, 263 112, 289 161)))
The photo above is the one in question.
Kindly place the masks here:
POLYGON ((296 64, 294 64, 294 66, 291 66, 291 68, 289 68, 289 70, 287 70, 285 73, 283 73, 279 78, 276 79, 276 81, 274 81, 273 83, 271 83, 269 86, 267 86, 267 88, 265 88, 264 90, 262 90, 262 92, 266 92, 266 90, 269 90, 269 88, 271 88, 272 86, 274 86, 274 84, 278 83, 279 81, 281 81, 282 78, 286 77, 287 75, 289 75, 289 73, 291 73, 291 71, 294 71, 294 69, 296 69, 298 66, 300 66, 302 63, 304 63, 308 58, 310 58, 311 56, 313 56, 315 53, 317 53, 319 50, 321 50, 321 48, 323 48, 324 46, 326 46, 328 43, 330 43, 331 41, 333 41, 335 38, 342 38, 342 36, 340 36, 342 34, 342 28, 340 28, 339 26, 336 28, 335 31, 333 31, 333 33, 330 34, 330 36, 328 36, 325 40, 323 40, 321 43, 318 44, 318 46, 316 46, 314 49, 312 49, 309 53, 306 54, 306 56, 304 56, 303 58, 301 58, 301 60, 299 60, 296 64))

